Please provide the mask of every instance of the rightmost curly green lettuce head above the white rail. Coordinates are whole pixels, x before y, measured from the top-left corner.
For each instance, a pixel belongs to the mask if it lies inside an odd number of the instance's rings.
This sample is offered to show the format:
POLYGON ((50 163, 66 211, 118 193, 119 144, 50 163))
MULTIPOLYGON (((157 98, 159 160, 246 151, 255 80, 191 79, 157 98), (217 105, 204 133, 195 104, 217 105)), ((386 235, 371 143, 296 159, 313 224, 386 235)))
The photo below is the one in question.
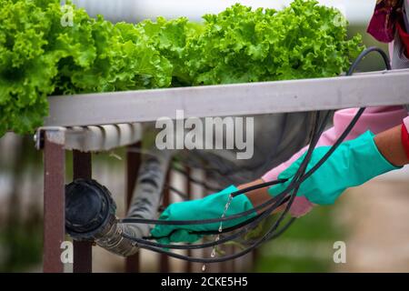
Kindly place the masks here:
POLYGON ((237 4, 204 19, 185 50, 195 85, 339 75, 363 50, 344 16, 314 0, 281 11, 237 4))

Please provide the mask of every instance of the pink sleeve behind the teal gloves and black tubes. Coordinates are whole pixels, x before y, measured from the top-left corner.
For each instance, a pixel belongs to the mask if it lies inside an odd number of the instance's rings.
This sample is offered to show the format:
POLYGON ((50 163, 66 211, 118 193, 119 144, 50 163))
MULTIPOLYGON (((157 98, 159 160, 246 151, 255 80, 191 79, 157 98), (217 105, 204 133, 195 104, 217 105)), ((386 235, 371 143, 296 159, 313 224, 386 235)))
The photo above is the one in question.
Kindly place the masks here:
MULTIPOLYGON (((318 141, 317 146, 332 146, 336 139, 342 135, 344 129, 349 125, 354 118, 358 108, 348 108, 338 110, 334 114, 334 127, 326 130, 318 141)), ((365 131, 371 130, 374 134, 378 134, 395 125, 402 124, 402 119, 407 116, 407 111, 402 106, 382 106, 366 108, 364 114, 359 118, 354 126, 354 129, 346 137, 346 140, 354 139, 365 131)), ((283 172, 288 166, 292 165, 300 156, 303 156, 308 146, 305 146, 298 153, 292 156, 283 164, 274 167, 267 172, 262 179, 265 182, 276 180, 278 175, 283 172)))

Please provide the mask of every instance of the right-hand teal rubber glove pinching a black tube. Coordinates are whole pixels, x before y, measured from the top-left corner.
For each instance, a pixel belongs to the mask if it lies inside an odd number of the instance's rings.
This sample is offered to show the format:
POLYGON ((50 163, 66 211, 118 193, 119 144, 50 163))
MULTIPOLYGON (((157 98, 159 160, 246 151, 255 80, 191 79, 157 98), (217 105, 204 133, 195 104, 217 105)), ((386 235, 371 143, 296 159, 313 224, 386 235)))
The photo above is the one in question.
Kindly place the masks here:
MULTIPOLYGON (((315 166, 330 148, 331 146, 315 148, 306 172, 315 166)), ((284 191, 303 162, 304 156, 278 176, 279 179, 289 180, 284 184, 272 186, 268 190, 270 195, 277 196, 284 191)), ((400 167, 392 165, 379 153, 374 143, 374 134, 367 131, 364 135, 338 146, 333 155, 301 184, 297 196, 305 196, 318 205, 331 205, 346 188, 362 185, 375 176, 398 168, 400 167)))

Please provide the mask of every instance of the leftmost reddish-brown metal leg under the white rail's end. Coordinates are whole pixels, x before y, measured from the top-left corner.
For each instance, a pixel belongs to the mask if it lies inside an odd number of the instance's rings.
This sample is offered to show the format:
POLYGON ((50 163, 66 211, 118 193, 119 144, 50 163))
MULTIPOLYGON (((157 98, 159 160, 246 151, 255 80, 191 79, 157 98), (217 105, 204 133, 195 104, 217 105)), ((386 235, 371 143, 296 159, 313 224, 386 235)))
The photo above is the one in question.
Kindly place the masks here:
POLYGON ((44 261, 45 273, 63 273, 65 240, 65 134, 44 132, 44 261))

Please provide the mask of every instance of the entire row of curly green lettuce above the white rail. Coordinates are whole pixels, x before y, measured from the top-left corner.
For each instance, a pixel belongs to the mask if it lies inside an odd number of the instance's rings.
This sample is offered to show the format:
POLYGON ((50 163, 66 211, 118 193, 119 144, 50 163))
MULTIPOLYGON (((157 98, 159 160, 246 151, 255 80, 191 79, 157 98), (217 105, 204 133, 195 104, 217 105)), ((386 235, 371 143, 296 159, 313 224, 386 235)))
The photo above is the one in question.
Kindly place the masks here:
POLYGON ((0 136, 43 124, 47 96, 340 75, 363 46, 315 0, 233 5, 203 23, 92 18, 57 0, 0 0, 0 136))

